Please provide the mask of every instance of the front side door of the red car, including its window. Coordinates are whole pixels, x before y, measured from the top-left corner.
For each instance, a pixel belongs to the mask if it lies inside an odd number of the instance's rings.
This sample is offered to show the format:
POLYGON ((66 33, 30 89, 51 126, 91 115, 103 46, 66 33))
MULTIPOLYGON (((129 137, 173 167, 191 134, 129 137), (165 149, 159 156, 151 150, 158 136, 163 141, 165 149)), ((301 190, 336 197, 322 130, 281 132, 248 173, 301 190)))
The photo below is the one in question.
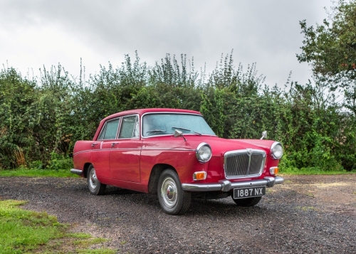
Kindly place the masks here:
POLYGON ((138 115, 122 117, 119 134, 110 152, 110 174, 113 179, 140 183, 140 139, 138 115))

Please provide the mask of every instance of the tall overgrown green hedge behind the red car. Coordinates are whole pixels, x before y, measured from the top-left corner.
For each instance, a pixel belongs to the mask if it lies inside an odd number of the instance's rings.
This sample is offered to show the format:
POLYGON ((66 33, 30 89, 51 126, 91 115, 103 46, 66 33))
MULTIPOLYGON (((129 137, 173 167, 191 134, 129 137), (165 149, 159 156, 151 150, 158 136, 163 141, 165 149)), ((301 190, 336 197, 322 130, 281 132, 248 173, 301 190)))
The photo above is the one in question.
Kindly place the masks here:
MULTIPOLYGON (((0 72, 0 168, 70 169, 77 140, 92 139, 101 119, 122 110, 172 107, 199 110, 220 137, 282 142, 282 169, 352 170, 356 167, 356 119, 323 78, 269 88, 256 64, 234 66, 221 55, 206 75, 194 60, 165 55, 153 66, 137 53, 117 68, 110 63, 85 80, 61 65, 23 78, 0 72)), ((45 170, 43 170, 45 169, 45 170)))

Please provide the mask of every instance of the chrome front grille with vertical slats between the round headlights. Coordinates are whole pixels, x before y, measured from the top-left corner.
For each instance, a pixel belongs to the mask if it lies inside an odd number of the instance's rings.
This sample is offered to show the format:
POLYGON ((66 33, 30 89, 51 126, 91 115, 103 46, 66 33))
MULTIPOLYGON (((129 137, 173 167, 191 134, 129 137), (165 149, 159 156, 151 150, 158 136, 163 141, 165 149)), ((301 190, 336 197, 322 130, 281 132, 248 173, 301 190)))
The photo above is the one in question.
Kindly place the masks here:
POLYGON ((266 152, 258 149, 243 149, 226 152, 224 169, 226 178, 258 176, 265 164, 266 152))

